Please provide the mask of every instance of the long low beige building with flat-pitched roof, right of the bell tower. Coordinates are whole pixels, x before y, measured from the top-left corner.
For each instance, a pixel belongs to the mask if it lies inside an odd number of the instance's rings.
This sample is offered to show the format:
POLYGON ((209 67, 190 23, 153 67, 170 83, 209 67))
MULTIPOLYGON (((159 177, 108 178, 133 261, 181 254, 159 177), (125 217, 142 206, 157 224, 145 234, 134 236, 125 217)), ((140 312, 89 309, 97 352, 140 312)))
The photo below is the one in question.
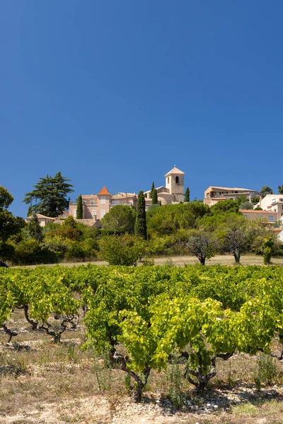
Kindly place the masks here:
POLYGON ((239 196, 245 196, 248 201, 253 201, 254 197, 260 197, 260 192, 250 189, 240 189, 238 187, 216 187, 210 186, 204 192, 204 204, 215 205, 219 201, 227 199, 235 200, 239 196))

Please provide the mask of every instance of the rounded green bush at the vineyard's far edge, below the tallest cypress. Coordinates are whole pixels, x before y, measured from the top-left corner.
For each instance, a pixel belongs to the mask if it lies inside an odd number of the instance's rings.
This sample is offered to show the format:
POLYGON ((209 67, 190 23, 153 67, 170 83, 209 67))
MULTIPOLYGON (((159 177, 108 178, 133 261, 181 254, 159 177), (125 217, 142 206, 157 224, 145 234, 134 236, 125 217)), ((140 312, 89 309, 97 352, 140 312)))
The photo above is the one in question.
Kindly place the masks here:
POLYGON ((100 254, 110 265, 135 265, 143 251, 144 242, 134 235, 108 235, 100 240, 100 254))

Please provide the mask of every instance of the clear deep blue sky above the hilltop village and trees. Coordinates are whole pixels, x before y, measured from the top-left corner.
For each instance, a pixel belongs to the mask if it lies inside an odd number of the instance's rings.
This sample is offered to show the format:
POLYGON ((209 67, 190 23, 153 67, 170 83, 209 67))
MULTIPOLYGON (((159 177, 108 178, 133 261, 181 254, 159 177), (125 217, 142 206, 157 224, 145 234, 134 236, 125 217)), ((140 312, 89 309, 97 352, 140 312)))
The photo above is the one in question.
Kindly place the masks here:
POLYGON ((0 185, 59 170, 75 193, 139 192, 176 165, 211 184, 283 184, 283 2, 0 4, 0 185))

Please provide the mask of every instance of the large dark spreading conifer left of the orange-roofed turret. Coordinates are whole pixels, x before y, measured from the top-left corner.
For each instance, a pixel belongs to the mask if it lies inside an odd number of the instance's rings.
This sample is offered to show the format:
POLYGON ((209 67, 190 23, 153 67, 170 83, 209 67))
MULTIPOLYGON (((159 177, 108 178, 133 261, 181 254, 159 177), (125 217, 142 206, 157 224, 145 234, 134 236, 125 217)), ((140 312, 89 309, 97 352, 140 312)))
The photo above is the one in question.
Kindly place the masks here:
POLYGON ((25 194, 23 202, 32 204, 35 201, 33 212, 55 218, 69 207, 67 194, 74 190, 68 181, 70 180, 63 177, 61 172, 57 172, 54 177, 47 175, 45 178, 40 178, 39 182, 33 186, 35 189, 25 194))

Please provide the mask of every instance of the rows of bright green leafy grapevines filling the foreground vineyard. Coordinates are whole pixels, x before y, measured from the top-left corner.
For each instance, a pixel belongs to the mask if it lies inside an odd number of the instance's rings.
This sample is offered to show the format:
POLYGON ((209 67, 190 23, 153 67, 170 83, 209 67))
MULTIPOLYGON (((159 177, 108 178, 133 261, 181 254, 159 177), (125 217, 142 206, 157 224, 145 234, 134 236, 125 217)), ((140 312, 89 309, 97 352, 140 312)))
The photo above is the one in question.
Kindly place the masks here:
MULTIPOLYGON (((99 367, 107 363, 108 369, 125 376, 127 393, 137 403, 147 393, 152 375, 168 369, 179 373, 186 393, 174 387, 168 394, 176 410, 192 394, 205 396, 214 382, 221 381, 221 364, 233 357, 261 355, 270 366, 283 359, 279 266, 1 269, 2 345, 8 342, 6 349, 22 349, 21 355, 28 356, 30 348, 20 343, 18 314, 26 321, 25 334, 33 340, 40 335, 57 350, 67 334, 81 331, 83 336, 75 347, 68 347, 68 355, 90 357, 95 352, 99 367)), ((12 370, 7 352, 1 351, 4 375, 12 370)), ((93 370, 97 374, 96 365, 93 370)), ((279 384, 281 379, 277 373, 279 384)), ((269 383, 258 376, 253 391, 269 383)))

